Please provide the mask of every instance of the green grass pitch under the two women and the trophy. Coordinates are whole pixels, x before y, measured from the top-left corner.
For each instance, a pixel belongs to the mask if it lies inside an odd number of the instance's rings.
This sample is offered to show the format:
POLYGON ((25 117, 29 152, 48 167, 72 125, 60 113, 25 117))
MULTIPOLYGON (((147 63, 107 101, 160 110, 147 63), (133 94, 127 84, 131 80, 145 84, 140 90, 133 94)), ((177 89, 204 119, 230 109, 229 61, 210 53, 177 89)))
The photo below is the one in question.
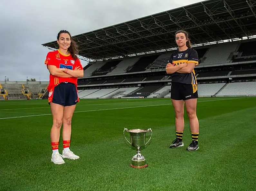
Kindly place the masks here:
POLYGON ((170 99, 81 100, 71 137, 80 159, 54 165, 47 100, 1 101, 0 190, 255 190, 255 113, 256 97, 199 98, 200 148, 189 152, 186 115, 184 147, 169 148, 175 139, 170 99), (142 151, 147 168, 129 166, 136 152, 125 143, 124 128, 152 128, 142 151))

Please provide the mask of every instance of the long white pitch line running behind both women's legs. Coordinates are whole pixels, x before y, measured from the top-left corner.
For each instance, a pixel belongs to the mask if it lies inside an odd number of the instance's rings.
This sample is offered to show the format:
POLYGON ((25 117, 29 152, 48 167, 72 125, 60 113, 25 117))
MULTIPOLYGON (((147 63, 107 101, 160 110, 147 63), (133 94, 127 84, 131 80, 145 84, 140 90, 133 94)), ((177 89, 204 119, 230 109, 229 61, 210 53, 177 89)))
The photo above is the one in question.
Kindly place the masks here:
MULTIPOLYGON (((198 101, 197 103, 213 102, 213 101, 222 101, 222 100, 232 100, 232 99, 241 99, 241 98, 205 100, 205 101, 198 101)), ((157 104, 157 105, 143 105, 143 106, 134 106, 134 107, 119 107, 119 108, 110 108, 110 109, 97 109, 97 110, 78 111, 78 112, 74 112, 74 113, 107 111, 107 110, 117 110, 117 109, 129 109, 129 108, 138 108, 138 107, 152 107, 152 106, 160 106, 160 105, 172 105, 172 104, 157 104)), ((24 117, 38 117, 38 116, 45 116, 45 115, 52 115, 52 113, 40 114, 40 115, 25 115, 25 116, 16 116, 16 117, 4 117, 4 118, 0 118, 0 120, 4 120, 4 119, 14 119, 14 118, 24 118, 24 117)))

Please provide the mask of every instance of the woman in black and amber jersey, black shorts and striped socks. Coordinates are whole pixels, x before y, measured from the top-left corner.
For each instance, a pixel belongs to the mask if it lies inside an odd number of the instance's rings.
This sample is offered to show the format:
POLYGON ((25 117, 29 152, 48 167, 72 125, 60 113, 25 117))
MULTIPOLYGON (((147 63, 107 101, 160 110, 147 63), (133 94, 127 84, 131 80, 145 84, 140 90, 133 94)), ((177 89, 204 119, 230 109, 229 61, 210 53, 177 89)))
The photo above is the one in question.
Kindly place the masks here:
POLYGON ((176 50, 169 58, 166 73, 171 74, 171 100, 175 110, 176 139, 170 148, 184 146, 182 138, 184 131, 184 104, 190 122, 192 143, 188 151, 196 151, 198 146, 199 122, 196 116, 197 81, 194 67, 198 65, 198 54, 191 48, 188 33, 179 30, 175 33, 176 50))

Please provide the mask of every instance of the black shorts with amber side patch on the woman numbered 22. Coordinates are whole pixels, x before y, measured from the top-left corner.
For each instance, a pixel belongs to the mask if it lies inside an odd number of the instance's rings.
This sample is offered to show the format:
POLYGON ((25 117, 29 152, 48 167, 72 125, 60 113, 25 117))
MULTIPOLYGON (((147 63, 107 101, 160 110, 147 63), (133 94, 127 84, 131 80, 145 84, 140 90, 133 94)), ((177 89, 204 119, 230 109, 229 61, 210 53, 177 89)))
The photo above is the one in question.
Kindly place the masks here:
POLYGON ((174 100, 187 100, 198 98, 196 84, 182 84, 172 82, 171 85, 171 99, 174 100))

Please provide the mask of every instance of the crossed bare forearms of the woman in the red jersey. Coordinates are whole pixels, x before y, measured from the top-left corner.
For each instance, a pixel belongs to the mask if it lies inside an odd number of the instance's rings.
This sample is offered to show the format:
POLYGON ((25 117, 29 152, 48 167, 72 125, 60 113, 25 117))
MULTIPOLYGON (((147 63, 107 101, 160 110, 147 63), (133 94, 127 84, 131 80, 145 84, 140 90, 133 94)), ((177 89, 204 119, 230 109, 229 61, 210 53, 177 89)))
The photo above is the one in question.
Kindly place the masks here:
POLYGON ((53 76, 61 78, 83 77, 83 69, 80 66, 77 66, 75 70, 69 70, 67 68, 57 68, 54 65, 48 65, 48 70, 53 76))

